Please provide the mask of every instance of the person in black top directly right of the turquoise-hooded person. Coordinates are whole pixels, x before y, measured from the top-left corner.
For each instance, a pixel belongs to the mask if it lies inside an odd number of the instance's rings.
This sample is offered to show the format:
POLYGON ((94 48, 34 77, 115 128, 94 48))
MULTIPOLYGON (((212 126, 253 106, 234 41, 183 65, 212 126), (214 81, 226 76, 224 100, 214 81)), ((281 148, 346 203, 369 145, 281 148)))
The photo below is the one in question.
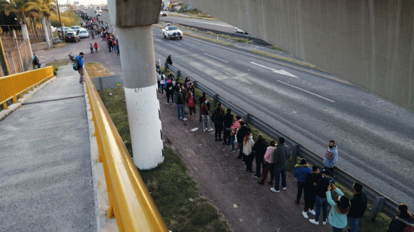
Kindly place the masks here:
POLYGON ((351 211, 348 213, 348 232, 357 232, 359 218, 362 217, 366 209, 366 193, 362 191, 362 184, 355 182, 352 186, 354 197, 351 200, 351 211))

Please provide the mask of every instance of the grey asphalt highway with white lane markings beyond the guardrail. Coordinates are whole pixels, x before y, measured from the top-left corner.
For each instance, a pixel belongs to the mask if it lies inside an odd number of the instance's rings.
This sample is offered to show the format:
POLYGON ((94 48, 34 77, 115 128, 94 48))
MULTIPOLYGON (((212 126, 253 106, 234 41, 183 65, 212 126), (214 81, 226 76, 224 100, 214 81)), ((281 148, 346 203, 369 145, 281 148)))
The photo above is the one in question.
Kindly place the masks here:
MULTIPOLYGON (((101 19, 108 21, 107 12, 101 19)), ((220 23, 214 24, 217 30, 220 23)), ((266 56, 185 34, 168 41, 155 27, 153 34, 161 62, 171 54, 179 70, 321 157, 328 140, 335 140, 338 167, 414 209, 413 114, 359 87, 266 56)))

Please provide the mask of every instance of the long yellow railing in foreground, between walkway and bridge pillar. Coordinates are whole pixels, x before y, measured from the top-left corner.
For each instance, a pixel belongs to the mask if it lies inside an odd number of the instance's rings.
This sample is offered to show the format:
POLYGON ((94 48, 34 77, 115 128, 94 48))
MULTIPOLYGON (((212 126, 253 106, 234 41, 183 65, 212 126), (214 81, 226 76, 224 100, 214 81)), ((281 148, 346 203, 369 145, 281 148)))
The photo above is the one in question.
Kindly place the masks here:
POLYGON ((119 231, 168 231, 95 85, 85 76, 99 160, 108 189, 108 218, 115 214, 119 231))

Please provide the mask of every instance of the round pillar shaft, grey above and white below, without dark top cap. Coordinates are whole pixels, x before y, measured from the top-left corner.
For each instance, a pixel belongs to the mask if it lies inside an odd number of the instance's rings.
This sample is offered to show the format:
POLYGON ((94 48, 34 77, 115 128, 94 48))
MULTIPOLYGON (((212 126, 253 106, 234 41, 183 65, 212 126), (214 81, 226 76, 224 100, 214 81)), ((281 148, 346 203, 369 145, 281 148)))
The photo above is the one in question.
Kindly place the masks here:
POLYGON ((152 169, 164 161, 152 26, 117 28, 117 34, 134 162, 152 169))

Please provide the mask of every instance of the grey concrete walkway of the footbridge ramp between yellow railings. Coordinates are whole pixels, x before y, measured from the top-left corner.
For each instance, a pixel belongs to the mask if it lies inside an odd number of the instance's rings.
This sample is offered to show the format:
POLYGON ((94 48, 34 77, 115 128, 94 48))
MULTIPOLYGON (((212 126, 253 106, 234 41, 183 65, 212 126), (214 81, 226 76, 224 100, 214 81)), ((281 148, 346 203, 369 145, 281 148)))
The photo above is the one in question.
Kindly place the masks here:
POLYGON ((83 85, 71 65, 0 121, 0 231, 96 231, 83 85))

